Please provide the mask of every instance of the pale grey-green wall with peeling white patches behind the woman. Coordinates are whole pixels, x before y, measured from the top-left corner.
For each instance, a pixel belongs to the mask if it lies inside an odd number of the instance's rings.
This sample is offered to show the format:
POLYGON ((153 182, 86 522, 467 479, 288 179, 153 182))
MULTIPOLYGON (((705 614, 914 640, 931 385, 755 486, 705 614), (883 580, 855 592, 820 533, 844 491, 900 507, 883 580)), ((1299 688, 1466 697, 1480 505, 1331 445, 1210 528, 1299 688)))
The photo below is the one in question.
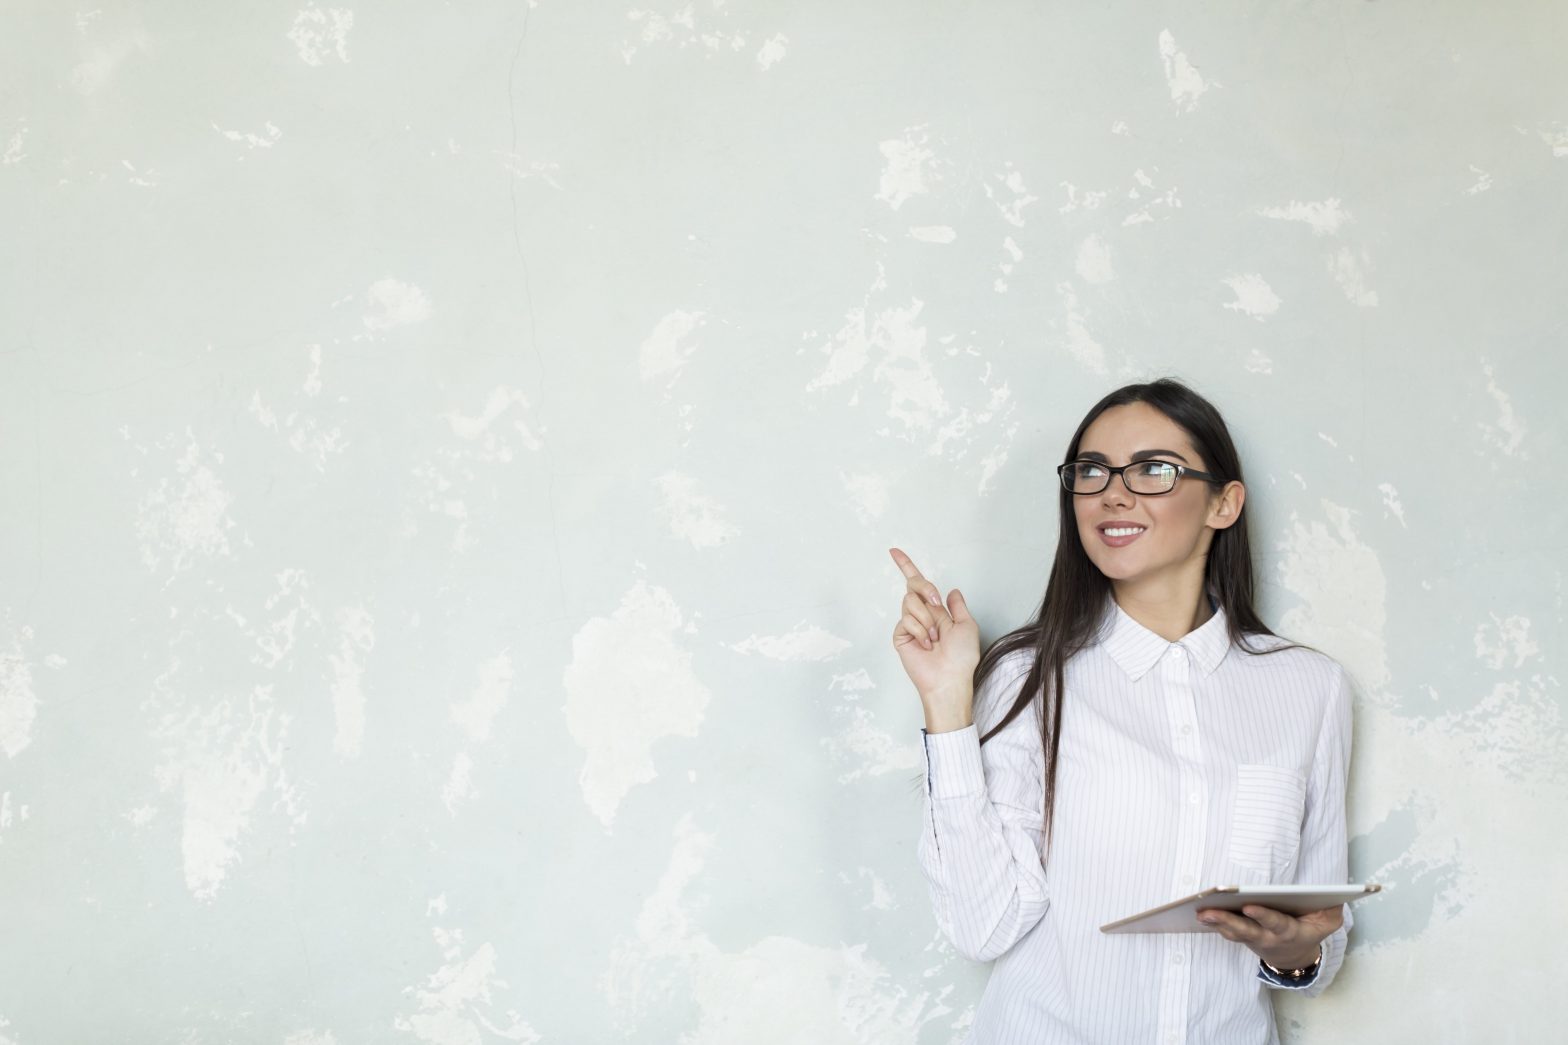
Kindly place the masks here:
POLYGON ((1557 1037, 1568 6, 644 2, 0 5, 0 1042, 958 1040, 886 549, 1162 373, 1358 683, 1286 1039, 1557 1037))

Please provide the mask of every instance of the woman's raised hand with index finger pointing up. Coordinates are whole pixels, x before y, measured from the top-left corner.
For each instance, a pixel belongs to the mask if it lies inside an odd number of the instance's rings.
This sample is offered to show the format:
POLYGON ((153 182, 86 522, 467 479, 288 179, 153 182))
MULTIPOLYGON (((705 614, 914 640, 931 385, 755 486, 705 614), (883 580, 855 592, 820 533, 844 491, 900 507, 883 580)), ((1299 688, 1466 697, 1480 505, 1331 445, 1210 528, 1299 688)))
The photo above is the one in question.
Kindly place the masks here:
POLYGON ((908 555, 897 548, 887 552, 908 579, 892 646, 920 694, 927 722, 967 717, 974 703, 974 672, 980 664, 980 626, 958 588, 944 604, 942 593, 908 555))

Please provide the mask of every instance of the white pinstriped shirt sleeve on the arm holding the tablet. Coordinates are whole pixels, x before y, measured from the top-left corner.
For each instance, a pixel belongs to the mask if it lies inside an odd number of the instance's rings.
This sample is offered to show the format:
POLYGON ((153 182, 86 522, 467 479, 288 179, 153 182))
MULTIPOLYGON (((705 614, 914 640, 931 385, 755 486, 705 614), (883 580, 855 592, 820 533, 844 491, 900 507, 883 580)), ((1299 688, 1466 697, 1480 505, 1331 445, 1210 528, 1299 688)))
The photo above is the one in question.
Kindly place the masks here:
MULTIPOLYGON (((1328 885, 1350 880, 1348 839, 1345 836, 1345 778, 1350 770, 1350 676, 1334 665, 1333 694, 1317 734, 1317 752, 1306 783, 1306 813, 1301 819, 1301 855, 1297 885, 1328 885)), ((1345 943, 1353 918, 1350 904, 1342 908, 1344 924, 1323 940, 1317 971, 1301 979, 1279 979, 1258 965, 1258 979, 1281 990, 1316 996, 1334 981, 1345 960, 1345 943)))

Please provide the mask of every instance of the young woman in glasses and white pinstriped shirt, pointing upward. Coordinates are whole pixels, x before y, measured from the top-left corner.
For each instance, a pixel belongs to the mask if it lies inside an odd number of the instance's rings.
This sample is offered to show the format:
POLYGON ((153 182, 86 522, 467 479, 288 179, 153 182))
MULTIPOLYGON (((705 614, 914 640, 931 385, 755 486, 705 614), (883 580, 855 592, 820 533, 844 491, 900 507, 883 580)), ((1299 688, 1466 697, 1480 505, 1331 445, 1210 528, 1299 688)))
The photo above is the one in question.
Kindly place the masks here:
POLYGON ((1065 460, 1044 603, 985 657, 963 595, 891 549, 925 709, 920 866, 942 934, 996 959, 967 1040, 1278 1042, 1272 992, 1328 985, 1347 908, 1099 926, 1209 885, 1345 882, 1348 678, 1253 610, 1247 488, 1207 400, 1116 389, 1065 460))

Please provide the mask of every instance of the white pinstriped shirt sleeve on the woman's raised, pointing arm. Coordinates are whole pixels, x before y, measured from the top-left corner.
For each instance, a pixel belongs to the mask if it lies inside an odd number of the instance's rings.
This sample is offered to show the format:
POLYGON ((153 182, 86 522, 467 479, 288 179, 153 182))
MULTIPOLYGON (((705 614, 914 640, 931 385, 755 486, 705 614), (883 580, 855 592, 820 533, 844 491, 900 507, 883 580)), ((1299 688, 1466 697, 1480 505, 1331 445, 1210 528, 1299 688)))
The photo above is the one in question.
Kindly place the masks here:
POLYGON ((1004 661, 975 695, 975 722, 963 730, 920 730, 925 748, 925 816, 919 858, 936 924, 975 962, 1004 954, 1049 907, 1041 861, 1044 755, 1038 700, 996 736, 1024 675, 1004 661), (1000 681, 997 681, 1000 676, 1000 681))

